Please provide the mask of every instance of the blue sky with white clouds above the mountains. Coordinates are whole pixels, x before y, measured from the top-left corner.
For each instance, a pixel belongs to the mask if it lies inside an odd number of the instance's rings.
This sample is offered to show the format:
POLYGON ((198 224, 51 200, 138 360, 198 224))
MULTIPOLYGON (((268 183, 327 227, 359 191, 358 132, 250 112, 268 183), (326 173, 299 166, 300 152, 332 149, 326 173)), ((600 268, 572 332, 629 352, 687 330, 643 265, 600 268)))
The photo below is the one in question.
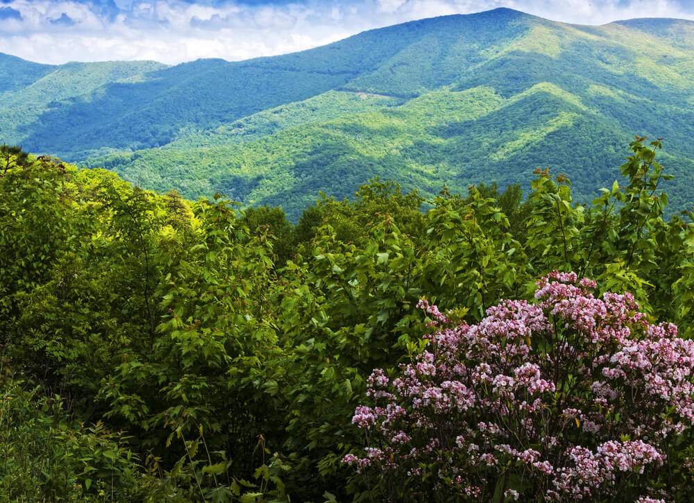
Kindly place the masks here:
POLYGON ((694 0, 0 0, 0 52, 45 63, 242 60, 497 7, 580 24, 694 19, 694 0))

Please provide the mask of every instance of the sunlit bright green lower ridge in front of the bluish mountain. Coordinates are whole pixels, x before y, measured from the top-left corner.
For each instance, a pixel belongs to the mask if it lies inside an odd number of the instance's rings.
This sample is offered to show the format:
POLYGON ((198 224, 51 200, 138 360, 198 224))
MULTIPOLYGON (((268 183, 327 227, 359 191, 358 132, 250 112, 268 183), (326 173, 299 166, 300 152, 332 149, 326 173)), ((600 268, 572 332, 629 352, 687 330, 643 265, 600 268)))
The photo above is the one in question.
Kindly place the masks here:
POLYGON ((89 164, 162 191, 197 197, 219 190, 246 203, 279 204, 296 218, 319 190, 348 197, 375 176, 432 194, 444 182, 457 190, 471 182, 527 182, 528 171, 512 169, 518 165, 571 173, 575 193, 588 198, 596 183, 613 179, 628 137, 575 96, 543 83, 508 99, 491 87, 442 89, 245 143, 214 137, 216 146, 151 149, 89 164))

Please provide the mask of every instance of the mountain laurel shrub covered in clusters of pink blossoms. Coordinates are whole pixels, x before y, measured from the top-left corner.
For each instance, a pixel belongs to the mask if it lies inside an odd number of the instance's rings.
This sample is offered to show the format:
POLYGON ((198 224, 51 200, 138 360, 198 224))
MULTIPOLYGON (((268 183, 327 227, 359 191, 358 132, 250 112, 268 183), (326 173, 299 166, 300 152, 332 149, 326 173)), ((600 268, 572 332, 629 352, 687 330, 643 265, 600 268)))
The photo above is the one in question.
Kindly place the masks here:
POLYGON ((667 500, 656 480, 694 417, 694 342, 594 288, 555 271, 536 302, 477 325, 422 300, 428 350, 373 371, 353 417, 368 447, 344 461, 389 501, 667 500))

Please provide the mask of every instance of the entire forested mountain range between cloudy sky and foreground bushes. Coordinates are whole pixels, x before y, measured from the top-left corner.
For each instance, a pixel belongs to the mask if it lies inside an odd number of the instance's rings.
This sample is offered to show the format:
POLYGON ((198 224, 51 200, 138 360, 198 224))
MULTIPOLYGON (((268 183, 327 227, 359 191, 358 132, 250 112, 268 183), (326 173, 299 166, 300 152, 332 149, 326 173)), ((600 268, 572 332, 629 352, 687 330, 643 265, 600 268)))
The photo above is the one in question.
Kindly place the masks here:
POLYGON ((300 53, 39 65, 0 55, 0 142, 189 198, 282 205, 375 176, 437 193, 549 167, 586 200, 633 135, 665 137, 672 210, 694 202, 694 22, 423 19, 300 53))

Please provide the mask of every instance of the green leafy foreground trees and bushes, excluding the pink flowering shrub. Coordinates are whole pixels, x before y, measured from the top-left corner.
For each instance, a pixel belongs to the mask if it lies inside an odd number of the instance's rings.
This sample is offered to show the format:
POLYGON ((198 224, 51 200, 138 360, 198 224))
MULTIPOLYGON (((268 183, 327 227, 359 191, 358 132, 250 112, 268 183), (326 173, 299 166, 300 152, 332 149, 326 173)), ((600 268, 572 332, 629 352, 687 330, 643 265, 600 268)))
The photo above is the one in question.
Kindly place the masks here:
POLYGON ((660 148, 637 137, 625 181, 591 205, 550 170, 525 201, 518 185, 425 200, 375 178, 296 226, 3 148, 0 342, 18 408, 0 484, 37 500, 349 500, 351 415, 373 368, 423 348, 418 300, 473 323, 554 269, 632 291, 691 336, 694 215, 665 220, 660 148))

